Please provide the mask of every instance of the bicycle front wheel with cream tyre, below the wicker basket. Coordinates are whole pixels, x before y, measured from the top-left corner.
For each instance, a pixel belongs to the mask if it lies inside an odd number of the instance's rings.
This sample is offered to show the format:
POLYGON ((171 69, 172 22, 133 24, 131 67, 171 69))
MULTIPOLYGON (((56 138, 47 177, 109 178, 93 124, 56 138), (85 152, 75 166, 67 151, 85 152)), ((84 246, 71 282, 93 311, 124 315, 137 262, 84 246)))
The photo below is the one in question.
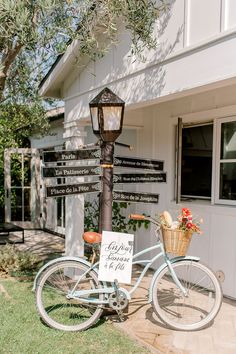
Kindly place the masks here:
POLYGON ((222 290, 215 274, 201 263, 183 260, 172 264, 185 296, 165 267, 153 286, 153 308, 169 327, 194 331, 206 327, 217 315, 222 290))

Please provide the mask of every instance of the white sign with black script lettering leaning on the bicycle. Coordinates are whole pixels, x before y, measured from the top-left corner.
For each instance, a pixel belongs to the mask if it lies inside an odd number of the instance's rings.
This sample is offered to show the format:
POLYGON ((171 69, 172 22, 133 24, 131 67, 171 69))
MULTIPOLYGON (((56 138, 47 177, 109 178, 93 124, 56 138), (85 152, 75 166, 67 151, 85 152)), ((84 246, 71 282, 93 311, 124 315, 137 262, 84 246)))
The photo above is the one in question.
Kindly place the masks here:
POLYGON ((103 231, 98 279, 130 284, 134 235, 103 231))

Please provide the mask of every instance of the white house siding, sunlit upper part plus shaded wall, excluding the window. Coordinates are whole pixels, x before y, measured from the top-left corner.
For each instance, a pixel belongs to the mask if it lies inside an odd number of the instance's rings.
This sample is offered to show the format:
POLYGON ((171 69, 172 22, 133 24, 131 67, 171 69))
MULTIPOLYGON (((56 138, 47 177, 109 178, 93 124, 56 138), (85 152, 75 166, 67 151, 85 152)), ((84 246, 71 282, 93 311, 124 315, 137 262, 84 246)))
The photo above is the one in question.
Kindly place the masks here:
MULTIPOLYGON (((66 123, 88 117, 89 101, 107 85, 128 106, 125 123, 140 126, 133 155, 165 161, 167 184, 136 186, 140 191, 160 193, 158 207, 137 205, 137 211, 152 215, 163 209, 177 212, 174 171, 178 116, 196 122, 236 115, 236 88, 230 86, 236 82, 235 3, 170 1, 169 14, 156 27, 160 45, 155 52, 146 53, 147 62, 133 61, 129 39, 121 31, 118 47, 82 73, 75 66, 64 83, 66 123)), ((205 234, 194 237, 191 253, 214 270, 222 270, 226 275, 224 292, 236 298, 236 209, 207 203, 186 206, 205 219, 205 234)), ((139 232, 137 248, 153 242, 148 233, 143 233, 139 232)))

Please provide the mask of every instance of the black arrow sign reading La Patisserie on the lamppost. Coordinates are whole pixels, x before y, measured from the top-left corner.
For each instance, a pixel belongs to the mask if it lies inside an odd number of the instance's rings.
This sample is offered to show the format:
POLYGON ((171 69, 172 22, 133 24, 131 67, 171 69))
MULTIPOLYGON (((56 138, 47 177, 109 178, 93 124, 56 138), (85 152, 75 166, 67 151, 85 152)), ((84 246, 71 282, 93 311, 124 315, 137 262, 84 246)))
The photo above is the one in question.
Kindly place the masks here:
POLYGON ((74 167, 45 167, 43 177, 73 177, 73 176, 95 176, 100 175, 101 168, 98 166, 74 166, 74 167))

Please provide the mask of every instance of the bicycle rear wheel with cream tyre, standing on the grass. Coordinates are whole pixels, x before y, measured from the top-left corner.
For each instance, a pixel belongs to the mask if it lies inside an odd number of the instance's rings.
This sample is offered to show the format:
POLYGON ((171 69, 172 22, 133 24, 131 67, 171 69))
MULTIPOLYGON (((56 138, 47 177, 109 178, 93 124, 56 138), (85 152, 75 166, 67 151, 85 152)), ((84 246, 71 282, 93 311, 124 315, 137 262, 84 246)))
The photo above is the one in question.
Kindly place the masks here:
MULTIPOLYGON (((43 321, 63 331, 82 331, 94 325, 102 313, 98 304, 85 303, 73 291, 99 288, 97 274, 79 261, 62 261, 48 267, 36 288, 36 304, 43 321), (73 291, 72 291, 73 290, 73 291)), ((102 300, 103 294, 84 295, 102 300)))

